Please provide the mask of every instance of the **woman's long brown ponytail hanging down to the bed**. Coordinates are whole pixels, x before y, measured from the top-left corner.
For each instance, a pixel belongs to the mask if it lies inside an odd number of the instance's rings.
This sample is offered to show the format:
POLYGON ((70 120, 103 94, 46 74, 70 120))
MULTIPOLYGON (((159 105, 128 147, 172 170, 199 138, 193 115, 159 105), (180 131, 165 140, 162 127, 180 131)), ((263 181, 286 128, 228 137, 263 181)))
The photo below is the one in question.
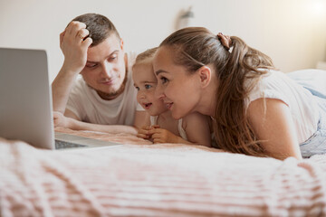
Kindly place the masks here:
MULTIPOLYGON (((219 148, 251 156, 265 156, 246 118, 245 98, 264 69, 273 69, 272 60, 249 47, 238 37, 230 37, 232 48, 224 69, 218 71, 214 132, 219 148), (252 86, 245 86, 251 79, 252 86)), ((218 65, 217 63, 216 65, 218 65)))

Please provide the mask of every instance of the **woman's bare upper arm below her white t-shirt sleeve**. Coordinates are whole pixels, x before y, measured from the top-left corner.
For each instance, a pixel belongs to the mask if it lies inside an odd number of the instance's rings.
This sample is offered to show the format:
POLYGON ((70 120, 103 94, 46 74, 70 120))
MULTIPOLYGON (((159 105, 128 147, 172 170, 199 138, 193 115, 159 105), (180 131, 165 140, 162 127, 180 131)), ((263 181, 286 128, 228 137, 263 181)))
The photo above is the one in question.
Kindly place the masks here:
POLYGON ((256 99, 247 110, 249 122, 254 134, 266 154, 279 159, 294 156, 302 159, 295 126, 288 106, 279 99, 256 99))

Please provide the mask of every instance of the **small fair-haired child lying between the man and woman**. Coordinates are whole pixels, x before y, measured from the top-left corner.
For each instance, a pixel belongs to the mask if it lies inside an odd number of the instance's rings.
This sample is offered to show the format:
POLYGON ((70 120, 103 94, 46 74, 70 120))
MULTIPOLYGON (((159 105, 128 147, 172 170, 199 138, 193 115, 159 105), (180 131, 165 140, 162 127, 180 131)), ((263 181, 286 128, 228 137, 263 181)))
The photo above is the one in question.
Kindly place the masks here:
POLYGON ((132 79, 138 90, 137 100, 149 113, 148 126, 139 129, 138 137, 151 139, 154 143, 184 143, 210 145, 207 118, 197 112, 174 119, 162 99, 154 93, 158 80, 154 75, 152 59, 157 48, 138 55, 133 65, 132 79))

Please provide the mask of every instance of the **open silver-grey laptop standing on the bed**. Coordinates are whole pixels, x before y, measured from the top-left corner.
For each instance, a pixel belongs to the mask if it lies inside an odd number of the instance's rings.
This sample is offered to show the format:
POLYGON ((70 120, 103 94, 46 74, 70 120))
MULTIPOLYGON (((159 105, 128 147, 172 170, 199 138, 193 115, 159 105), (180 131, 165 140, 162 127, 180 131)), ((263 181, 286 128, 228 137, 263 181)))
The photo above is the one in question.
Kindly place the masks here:
POLYGON ((0 137, 46 149, 121 145, 54 133, 47 54, 28 49, 0 48, 0 137))

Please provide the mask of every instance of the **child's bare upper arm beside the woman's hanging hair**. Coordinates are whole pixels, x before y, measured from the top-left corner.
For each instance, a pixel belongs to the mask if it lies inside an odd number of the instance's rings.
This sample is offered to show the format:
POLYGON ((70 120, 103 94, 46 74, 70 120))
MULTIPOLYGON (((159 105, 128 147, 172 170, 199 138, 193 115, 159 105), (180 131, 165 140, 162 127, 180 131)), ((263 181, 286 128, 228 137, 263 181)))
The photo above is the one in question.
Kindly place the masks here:
POLYGON ((183 118, 187 139, 193 144, 211 146, 211 134, 207 117, 198 112, 191 113, 183 118))

